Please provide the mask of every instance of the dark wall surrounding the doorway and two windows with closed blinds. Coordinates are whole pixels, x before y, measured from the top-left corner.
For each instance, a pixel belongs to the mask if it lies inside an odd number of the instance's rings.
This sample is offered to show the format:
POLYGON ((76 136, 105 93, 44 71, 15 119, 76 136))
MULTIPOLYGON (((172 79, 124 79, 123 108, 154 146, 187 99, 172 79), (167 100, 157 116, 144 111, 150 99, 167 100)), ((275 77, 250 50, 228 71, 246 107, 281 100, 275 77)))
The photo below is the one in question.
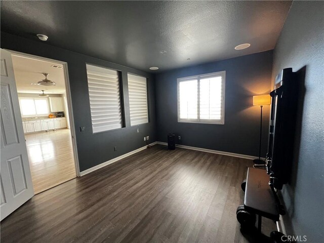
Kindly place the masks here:
POLYGON ((87 170, 109 159, 145 146, 144 136, 150 136, 150 142, 156 141, 155 87, 152 74, 41 42, 30 41, 29 39, 5 32, 1 32, 1 48, 67 62, 80 171, 87 170), (86 63, 121 71, 126 128, 92 134, 86 63), (143 75, 148 78, 149 124, 135 127, 130 125, 127 72, 143 75), (86 127, 86 131, 80 133, 79 127, 83 126, 86 127), (139 128, 139 133, 137 133, 137 128, 139 128), (114 146, 117 146, 117 151, 113 150, 114 146))

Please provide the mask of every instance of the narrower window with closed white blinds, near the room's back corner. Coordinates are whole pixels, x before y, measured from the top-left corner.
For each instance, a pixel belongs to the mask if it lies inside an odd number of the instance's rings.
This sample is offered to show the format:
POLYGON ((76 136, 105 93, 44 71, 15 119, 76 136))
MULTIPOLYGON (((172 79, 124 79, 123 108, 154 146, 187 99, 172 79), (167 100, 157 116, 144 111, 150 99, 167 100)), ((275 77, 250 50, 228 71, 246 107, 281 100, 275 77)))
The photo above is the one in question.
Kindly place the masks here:
POLYGON ((146 77, 128 73, 131 126, 148 123, 146 77))

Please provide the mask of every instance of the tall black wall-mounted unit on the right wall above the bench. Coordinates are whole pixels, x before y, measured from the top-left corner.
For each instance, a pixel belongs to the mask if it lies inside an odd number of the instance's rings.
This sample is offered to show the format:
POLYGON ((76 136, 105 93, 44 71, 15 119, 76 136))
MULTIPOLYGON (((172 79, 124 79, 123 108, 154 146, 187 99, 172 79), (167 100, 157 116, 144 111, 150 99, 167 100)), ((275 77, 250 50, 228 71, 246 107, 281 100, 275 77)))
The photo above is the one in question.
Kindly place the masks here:
POLYGON ((294 137, 298 102, 298 82, 292 68, 277 76, 271 96, 267 173, 274 188, 289 182, 293 165, 294 137))

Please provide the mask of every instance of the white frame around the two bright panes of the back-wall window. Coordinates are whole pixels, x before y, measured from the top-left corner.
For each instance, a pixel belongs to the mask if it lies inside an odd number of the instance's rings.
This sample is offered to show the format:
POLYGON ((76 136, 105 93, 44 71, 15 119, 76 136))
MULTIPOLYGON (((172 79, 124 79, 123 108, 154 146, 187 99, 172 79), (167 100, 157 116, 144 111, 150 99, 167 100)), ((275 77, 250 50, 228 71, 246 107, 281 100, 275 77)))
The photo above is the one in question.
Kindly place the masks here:
POLYGON ((180 77, 177 78, 177 111, 178 111, 178 123, 198 123, 198 124, 218 124, 218 125, 224 125, 225 124, 225 74, 226 71, 220 71, 220 72, 212 72, 212 73, 206 73, 206 74, 200 74, 200 75, 194 75, 189 77, 180 77), (221 106, 221 119, 219 120, 212 120, 212 119, 200 119, 199 118, 199 107, 200 107, 200 92, 199 92, 199 82, 200 79, 206 78, 207 76, 221 76, 222 77, 222 106, 221 106), (179 84, 181 82, 190 81, 190 80, 197 80, 197 118, 180 118, 180 89, 179 84))

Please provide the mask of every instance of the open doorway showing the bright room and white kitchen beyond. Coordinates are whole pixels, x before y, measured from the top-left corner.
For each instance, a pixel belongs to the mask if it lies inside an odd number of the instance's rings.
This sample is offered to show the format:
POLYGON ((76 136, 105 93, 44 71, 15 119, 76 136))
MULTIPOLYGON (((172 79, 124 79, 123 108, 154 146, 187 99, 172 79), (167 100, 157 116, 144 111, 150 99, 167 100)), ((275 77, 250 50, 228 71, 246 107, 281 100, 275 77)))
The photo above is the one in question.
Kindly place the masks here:
POLYGON ((66 63, 12 53, 34 193, 78 176, 66 63))

